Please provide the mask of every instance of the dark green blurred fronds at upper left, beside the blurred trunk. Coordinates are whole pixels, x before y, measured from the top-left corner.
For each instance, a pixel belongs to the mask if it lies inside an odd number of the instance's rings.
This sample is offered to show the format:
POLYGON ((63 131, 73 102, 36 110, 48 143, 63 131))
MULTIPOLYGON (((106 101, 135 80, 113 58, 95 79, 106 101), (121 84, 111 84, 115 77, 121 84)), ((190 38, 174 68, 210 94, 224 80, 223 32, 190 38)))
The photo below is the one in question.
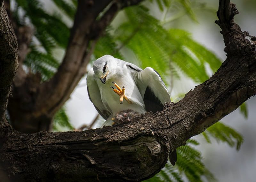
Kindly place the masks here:
POLYGON ((17 8, 14 12, 18 14, 19 9, 22 9, 24 18, 30 20, 27 24, 32 24, 35 30, 30 43, 31 51, 24 64, 32 72, 41 73, 43 81, 49 80, 60 65, 52 56, 52 51, 59 47, 66 48, 69 28, 61 20, 60 15, 47 13, 38 0, 17 0, 16 2, 17 8))

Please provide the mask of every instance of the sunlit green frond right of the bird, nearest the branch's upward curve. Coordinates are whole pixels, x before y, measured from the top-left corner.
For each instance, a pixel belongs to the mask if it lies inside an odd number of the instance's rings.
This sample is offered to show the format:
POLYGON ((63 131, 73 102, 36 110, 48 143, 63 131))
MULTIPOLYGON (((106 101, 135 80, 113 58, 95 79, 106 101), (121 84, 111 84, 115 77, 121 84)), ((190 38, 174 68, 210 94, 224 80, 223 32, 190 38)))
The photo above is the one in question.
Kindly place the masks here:
POLYGON ((209 78, 206 73, 205 63, 208 63, 213 72, 220 67, 218 59, 211 51, 192 40, 190 34, 180 29, 169 30, 172 42, 172 62, 176 64, 188 77, 195 82, 203 82, 209 78))

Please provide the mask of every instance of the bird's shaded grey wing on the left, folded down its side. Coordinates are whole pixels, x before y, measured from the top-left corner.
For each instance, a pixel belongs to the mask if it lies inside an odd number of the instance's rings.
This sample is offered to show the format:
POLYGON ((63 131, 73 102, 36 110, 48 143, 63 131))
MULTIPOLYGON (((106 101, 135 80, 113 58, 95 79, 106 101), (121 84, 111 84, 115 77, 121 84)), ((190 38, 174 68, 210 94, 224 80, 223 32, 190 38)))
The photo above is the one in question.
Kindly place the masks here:
POLYGON ((108 119, 111 113, 105 108, 102 103, 99 87, 94 79, 93 68, 88 72, 87 78, 87 91, 90 101, 93 103, 96 110, 99 112, 100 116, 104 119, 108 119))

